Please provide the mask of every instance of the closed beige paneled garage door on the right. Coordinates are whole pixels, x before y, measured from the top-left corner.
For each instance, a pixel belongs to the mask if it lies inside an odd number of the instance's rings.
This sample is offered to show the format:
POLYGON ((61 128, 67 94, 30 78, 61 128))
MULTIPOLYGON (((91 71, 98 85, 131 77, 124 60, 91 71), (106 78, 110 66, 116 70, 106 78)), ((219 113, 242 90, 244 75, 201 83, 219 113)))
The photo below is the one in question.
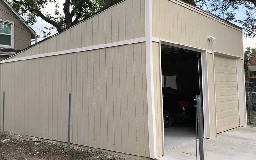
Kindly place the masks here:
POLYGON ((214 55, 217 132, 239 126, 236 59, 214 55))

